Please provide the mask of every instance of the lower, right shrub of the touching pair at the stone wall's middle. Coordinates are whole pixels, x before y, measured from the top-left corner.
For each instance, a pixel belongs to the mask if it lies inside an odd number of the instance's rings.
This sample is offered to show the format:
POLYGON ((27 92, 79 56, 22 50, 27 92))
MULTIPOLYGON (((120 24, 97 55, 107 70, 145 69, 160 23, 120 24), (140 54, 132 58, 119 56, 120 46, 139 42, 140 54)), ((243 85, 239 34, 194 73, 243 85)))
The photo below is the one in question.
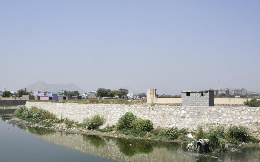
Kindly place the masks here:
POLYGON ((153 129, 153 123, 149 119, 138 118, 131 123, 132 128, 139 128, 143 131, 151 131, 153 129))

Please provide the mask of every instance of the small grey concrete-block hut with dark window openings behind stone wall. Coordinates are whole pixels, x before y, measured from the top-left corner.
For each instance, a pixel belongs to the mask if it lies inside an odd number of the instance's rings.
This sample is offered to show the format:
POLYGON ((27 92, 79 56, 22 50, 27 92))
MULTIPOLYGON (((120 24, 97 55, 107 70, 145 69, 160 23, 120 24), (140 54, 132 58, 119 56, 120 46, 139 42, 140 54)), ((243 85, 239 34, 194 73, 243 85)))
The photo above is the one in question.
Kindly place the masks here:
POLYGON ((214 106, 214 91, 181 91, 181 106, 214 106))

